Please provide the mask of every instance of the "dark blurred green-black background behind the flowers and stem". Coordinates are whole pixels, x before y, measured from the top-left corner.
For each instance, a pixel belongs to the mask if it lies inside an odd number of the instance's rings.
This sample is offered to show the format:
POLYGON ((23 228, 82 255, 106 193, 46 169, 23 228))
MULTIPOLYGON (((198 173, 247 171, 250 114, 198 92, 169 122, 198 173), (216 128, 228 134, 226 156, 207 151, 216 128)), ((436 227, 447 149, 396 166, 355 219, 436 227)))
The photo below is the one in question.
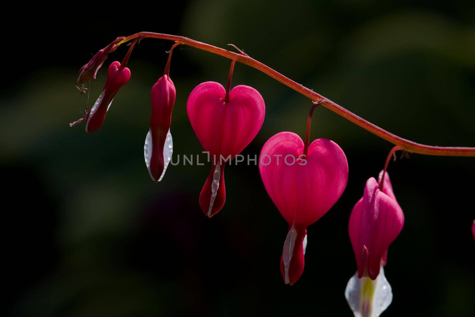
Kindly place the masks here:
MULTIPOLYGON (((2 36, 4 316, 352 316, 343 295, 356 270, 348 217, 392 145, 315 111, 311 138, 338 143, 350 174, 341 199, 309 227, 304 274, 289 287, 279 270, 287 224, 257 166, 227 168, 227 202, 212 219, 198 204, 209 164, 169 166, 161 183, 150 179, 143 161, 150 88, 170 41, 135 47, 132 78, 98 132, 69 127, 127 48, 110 55, 88 94, 75 87, 78 69, 117 36, 154 31, 233 43, 392 133, 475 146, 473 2, 32 6, 2 36)), ((203 81, 224 85, 228 69, 226 58, 175 50, 174 154, 201 152, 186 100, 203 81)), ((280 131, 304 136, 307 98, 242 64, 233 77, 239 84, 266 101, 264 125, 243 154, 258 154, 280 131)), ((406 223, 389 251, 394 299, 383 316, 475 316, 474 163, 419 154, 390 163, 406 223)))

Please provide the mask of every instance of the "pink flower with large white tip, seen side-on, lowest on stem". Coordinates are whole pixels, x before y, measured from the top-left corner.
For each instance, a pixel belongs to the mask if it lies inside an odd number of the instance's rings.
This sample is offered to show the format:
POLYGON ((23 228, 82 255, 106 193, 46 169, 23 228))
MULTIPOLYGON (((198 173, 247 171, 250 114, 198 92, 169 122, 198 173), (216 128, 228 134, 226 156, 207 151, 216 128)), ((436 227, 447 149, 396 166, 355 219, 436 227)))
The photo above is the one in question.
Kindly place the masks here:
POLYGON ((348 281, 345 297, 354 316, 377 317, 391 303, 391 286, 384 276, 388 248, 404 225, 404 214, 392 191, 388 173, 378 182, 371 177, 363 197, 350 215, 348 231, 355 254, 355 275, 348 281))

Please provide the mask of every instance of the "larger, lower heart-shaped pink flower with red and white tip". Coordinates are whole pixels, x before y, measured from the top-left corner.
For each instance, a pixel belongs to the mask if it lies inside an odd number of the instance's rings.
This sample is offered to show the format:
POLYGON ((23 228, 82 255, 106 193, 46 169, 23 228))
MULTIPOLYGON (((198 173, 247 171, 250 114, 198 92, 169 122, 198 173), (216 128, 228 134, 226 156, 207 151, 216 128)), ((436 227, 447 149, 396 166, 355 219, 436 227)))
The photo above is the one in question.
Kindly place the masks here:
POLYGON ((285 283, 292 285, 304 271, 306 229, 342 195, 348 162, 331 140, 315 140, 305 156, 302 139, 281 132, 264 144, 259 171, 267 193, 289 224, 280 268, 285 283))

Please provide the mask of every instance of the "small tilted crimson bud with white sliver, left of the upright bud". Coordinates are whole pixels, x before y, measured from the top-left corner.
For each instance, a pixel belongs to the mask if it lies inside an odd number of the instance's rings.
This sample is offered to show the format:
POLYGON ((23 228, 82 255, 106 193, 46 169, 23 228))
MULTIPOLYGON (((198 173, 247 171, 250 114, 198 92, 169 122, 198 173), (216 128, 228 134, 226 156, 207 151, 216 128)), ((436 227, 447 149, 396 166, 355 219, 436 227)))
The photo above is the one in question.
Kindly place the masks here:
POLYGON ((109 66, 107 71, 107 81, 104 85, 104 90, 99 96, 94 106, 89 109, 85 116, 86 132, 95 132, 104 123, 105 114, 112 104, 115 94, 120 87, 125 85, 130 79, 130 69, 127 67, 121 68, 121 63, 115 61, 109 66))

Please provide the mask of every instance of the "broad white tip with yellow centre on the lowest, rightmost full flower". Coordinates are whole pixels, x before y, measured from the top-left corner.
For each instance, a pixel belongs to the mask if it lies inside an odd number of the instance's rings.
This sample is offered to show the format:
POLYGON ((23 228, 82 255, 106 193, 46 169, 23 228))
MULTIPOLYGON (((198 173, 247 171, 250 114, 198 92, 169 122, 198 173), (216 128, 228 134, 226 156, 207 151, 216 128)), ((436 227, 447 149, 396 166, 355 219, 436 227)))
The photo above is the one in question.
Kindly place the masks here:
POLYGON ((348 281, 345 298, 355 317, 378 317, 392 302, 392 289, 384 276, 380 274, 373 281, 368 277, 358 279, 358 272, 348 281))

